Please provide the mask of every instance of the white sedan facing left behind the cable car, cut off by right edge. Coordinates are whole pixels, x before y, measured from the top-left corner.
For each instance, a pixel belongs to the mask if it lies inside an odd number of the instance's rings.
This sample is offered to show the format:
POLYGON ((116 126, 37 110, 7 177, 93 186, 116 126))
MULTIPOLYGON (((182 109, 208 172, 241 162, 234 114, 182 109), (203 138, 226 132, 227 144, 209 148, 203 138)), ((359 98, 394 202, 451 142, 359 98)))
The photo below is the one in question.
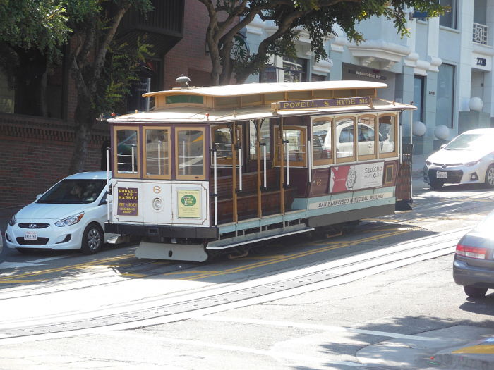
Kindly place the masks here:
POLYGON ((494 128, 470 130, 428 157, 423 180, 434 189, 444 184, 484 183, 494 187, 494 128))

